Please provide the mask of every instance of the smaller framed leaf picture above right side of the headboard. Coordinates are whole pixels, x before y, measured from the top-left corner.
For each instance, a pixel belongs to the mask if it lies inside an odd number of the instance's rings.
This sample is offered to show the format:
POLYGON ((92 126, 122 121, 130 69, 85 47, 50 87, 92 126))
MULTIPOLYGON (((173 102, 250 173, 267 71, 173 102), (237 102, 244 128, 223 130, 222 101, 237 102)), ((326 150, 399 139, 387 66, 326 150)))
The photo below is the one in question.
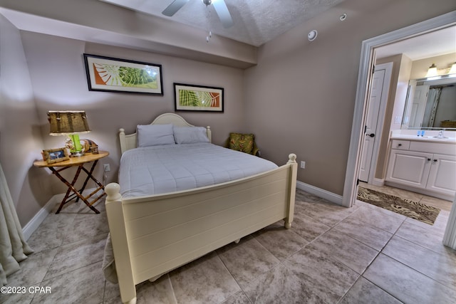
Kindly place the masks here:
POLYGON ((223 112, 223 88, 174 84, 175 110, 223 112))

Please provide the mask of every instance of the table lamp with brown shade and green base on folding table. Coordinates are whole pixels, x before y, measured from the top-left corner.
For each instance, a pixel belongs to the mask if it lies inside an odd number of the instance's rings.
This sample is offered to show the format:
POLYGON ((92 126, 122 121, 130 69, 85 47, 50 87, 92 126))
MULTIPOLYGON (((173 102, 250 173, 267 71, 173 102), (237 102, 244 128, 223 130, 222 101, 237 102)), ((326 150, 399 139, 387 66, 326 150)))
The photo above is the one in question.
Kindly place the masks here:
POLYGON ((79 140, 79 133, 88 133, 86 111, 49 111, 50 135, 66 135, 66 147, 70 148, 71 156, 82 156, 84 154, 79 140))

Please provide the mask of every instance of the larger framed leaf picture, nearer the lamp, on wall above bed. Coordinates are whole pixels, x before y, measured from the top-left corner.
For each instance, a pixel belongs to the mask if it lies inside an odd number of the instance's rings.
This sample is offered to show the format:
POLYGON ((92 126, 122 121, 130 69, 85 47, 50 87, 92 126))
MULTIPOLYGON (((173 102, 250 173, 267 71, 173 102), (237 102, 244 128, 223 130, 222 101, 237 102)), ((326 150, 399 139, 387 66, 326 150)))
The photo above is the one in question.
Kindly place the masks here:
POLYGON ((84 54, 89 90, 163 95, 162 65, 84 54))

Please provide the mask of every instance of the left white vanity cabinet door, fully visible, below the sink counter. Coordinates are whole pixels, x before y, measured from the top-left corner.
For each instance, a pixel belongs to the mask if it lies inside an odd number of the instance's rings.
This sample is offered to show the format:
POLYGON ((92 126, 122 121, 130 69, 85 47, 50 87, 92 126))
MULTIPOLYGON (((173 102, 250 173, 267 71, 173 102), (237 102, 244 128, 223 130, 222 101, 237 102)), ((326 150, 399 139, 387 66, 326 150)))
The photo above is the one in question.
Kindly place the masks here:
POLYGON ((391 150, 386 180, 424 189, 431 162, 430 153, 391 150))

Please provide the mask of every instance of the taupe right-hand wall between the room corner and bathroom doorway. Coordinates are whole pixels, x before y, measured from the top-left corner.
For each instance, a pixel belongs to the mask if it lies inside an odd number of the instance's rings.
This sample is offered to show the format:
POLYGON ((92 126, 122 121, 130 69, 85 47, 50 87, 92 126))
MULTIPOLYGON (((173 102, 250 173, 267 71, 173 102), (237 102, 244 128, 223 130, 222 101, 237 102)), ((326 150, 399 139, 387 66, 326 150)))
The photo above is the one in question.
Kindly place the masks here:
POLYGON ((306 161, 299 181, 342 194, 362 41, 455 9, 455 1, 346 0, 261 46, 245 103, 264 156, 283 162, 294 152, 306 161))

